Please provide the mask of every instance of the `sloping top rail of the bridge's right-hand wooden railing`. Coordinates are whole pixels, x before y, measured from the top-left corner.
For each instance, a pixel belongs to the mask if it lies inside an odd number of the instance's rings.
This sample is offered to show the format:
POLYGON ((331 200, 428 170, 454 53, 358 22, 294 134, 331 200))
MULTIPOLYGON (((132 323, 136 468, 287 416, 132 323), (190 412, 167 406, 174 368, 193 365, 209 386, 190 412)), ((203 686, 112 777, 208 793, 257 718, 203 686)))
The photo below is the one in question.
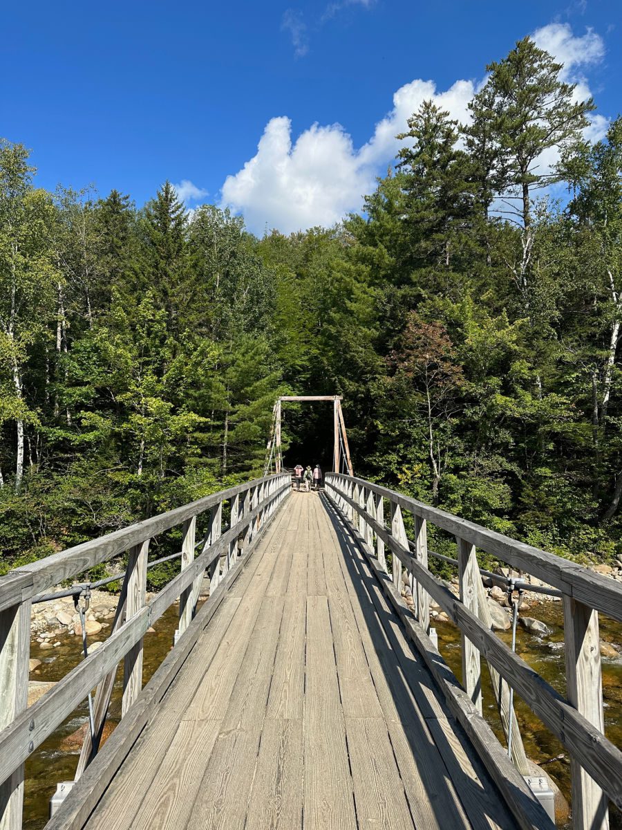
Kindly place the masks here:
POLYGON ((595 574, 570 559, 562 559, 561 556, 547 553, 546 550, 535 548, 531 544, 519 542, 495 530, 488 530, 483 525, 476 525, 474 522, 440 510, 438 507, 426 505, 411 496, 403 496, 387 487, 374 484, 372 481, 327 472, 326 479, 329 478, 351 481, 359 486, 367 487, 378 496, 383 496, 400 505, 404 510, 411 511, 421 519, 430 521, 457 538, 476 545, 488 554, 497 556, 513 568, 542 579, 543 582, 559 588, 567 596, 622 623, 622 586, 614 579, 595 574))

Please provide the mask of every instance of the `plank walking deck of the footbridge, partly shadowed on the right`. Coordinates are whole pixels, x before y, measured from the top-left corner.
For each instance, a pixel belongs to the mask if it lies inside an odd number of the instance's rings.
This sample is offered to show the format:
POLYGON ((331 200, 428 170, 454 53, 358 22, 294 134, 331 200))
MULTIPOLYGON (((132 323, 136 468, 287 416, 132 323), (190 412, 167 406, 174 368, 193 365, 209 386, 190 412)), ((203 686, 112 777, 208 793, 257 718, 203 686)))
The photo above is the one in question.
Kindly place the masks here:
POLYGON ((89 828, 513 828, 323 496, 294 493, 89 828))

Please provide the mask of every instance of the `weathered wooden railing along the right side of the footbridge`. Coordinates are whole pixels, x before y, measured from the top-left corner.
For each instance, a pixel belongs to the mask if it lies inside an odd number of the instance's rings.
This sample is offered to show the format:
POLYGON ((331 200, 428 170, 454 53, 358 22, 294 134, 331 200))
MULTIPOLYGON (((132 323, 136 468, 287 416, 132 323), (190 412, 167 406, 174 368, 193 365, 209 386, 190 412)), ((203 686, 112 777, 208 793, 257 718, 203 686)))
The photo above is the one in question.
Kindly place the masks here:
MULTIPOLYGON (((327 473, 326 491, 353 532, 377 573, 386 577, 386 549, 391 551, 391 600, 420 648, 430 670, 445 691, 449 705, 487 764, 506 800, 513 803, 516 787, 499 772, 487 740, 474 728, 473 715, 482 713, 481 661, 488 662, 493 692, 503 728, 513 723, 512 754, 518 770, 527 775, 516 718, 510 715, 510 687, 566 747, 571 758, 573 827, 606 830, 608 799, 622 809, 622 752, 604 735, 598 613, 622 622, 622 587, 613 579, 581 565, 523 544, 481 525, 460 519, 386 487, 351 476, 327 473), (385 524, 385 502, 390 525, 385 524), (403 511, 414 517, 413 552, 406 536, 403 511), (454 536, 459 566, 459 598, 428 569, 427 523, 454 536), (479 574, 476 549, 493 554, 513 569, 532 574, 559 589, 563 598, 566 699, 513 652, 491 630, 486 596, 479 574), (415 622, 401 600, 401 572, 411 579, 415 622), (435 599, 462 636, 463 686, 456 693, 447 680, 447 666, 430 641, 430 597, 435 599), (438 659, 437 659, 438 657, 438 659), (466 703, 464 701, 466 698, 466 703)), ((387 516, 388 518, 388 516, 387 516)), ((481 721, 481 718, 477 719, 481 721)), ((489 733, 491 734, 491 733, 489 733)), ((500 748, 500 745, 498 745, 500 748)), ((523 802, 524 803, 524 802, 523 802)), ((520 803, 517 809, 520 809, 520 803)), ((525 826, 530 826, 526 819, 525 826)))

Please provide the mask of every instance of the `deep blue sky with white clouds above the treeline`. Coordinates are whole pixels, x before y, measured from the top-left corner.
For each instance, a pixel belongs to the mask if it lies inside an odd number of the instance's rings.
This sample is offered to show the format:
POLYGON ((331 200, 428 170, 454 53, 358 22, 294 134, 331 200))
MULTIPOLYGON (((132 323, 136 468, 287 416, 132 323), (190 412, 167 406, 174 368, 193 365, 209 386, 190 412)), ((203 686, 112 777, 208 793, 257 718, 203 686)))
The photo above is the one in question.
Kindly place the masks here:
MULTIPOLYGON (((262 235, 362 209, 425 98, 464 121, 490 61, 531 35, 622 111, 620 0, 30 0, 5 5, 0 136, 36 183, 129 193, 166 180, 262 235)), ((549 159, 550 160, 550 159, 549 159)))

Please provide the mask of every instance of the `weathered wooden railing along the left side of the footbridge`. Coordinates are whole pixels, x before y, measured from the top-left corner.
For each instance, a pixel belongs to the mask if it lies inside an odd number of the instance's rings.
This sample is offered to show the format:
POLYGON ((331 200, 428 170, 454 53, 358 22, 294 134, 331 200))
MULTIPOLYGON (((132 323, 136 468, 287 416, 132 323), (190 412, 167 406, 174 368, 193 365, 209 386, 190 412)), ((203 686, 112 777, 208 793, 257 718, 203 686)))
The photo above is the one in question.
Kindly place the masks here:
MULTIPOLYGON (((268 476, 206 496, 192 504, 130 525, 99 539, 14 570, 0 579, 0 830, 22 827, 24 763, 37 746, 89 696, 97 686, 93 705, 93 735, 80 754, 76 778, 88 776, 108 711, 114 676, 124 661, 122 715, 132 723, 109 739, 109 763, 90 782, 92 793, 114 775, 115 759, 123 755, 124 740, 140 730, 153 706, 173 682, 179 666, 202 628, 215 613, 226 588, 235 579, 262 531, 286 496, 289 476, 268 476), (230 505, 228 529, 222 528, 223 505, 230 505), (197 520, 205 532, 197 542, 197 520), (154 537, 182 528, 181 571, 151 601, 146 602, 148 550, 154 537), (197 549, 200 553, 196 555, 197 549), (110 636, 95 652, 70 671, 51 691, 27 707, 30 623, 33 598, 51 586, 129 552, 128 567, 110 636), (205 573, 211 578, 210 598, 197 612, 205 573), (141 694, 143 635, 179 598, 177 645, 168 654, 141 694), (196 617, 195 617, 196 614, 196 617), (137 701, 140 706, 136 706, 137 701), (123 733, 123 735, 120 735, 123 733), (110 745, 110 747, 109 747, 110 745)), ((120 763, 120 761, 119 761, 120 763)), ((75 817, 88 808, 88 799, 76 806, 75 817)), ((77 821, 77 818, 75 818, 77 821)), ((53 820, 52 820, 53 821, 53 820)), ((65 820, 64 820, 65 821, 65 820)), ((63 826, 70 826, 64 823, 63 826)))

